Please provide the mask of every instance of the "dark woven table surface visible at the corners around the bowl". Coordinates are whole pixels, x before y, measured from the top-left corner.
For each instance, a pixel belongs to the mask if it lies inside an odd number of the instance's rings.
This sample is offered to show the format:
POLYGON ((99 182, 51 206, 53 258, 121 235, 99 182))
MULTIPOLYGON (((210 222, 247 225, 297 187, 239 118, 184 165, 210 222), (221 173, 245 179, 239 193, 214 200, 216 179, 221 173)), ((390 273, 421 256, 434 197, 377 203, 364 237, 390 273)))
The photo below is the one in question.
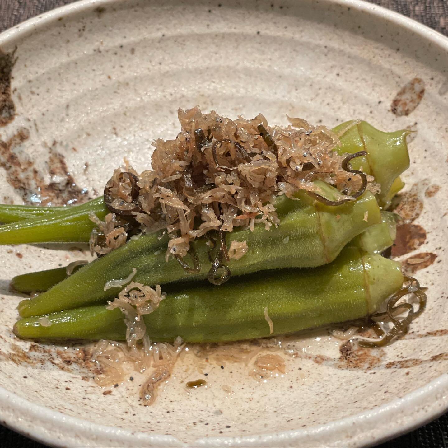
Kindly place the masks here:
MULTIPOLYGON (((367 0, 411 17, 448 36, 448 0, 367 0)), ((0 32, 49 9, 73 0, 0 0, 0 32)), ((447 448, 448 414, 378 448, 447 448)), ((22 435, 0 426, 0 446, 43 448, 22 435)))

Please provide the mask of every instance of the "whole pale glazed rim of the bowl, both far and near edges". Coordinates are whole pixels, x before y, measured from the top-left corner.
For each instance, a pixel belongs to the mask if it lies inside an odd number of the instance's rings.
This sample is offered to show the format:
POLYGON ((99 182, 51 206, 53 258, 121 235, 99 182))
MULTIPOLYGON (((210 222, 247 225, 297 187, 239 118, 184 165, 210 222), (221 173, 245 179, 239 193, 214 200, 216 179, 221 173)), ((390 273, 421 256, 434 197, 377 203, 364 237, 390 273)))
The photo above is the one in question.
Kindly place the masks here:
MULTIPOLYGON (((296 0, 298 1, 298 0, 296 0)), ((423 25, 416 20, 406 17, 400 13, 386 9, 377 4, 368 3, 365 0, 320 0, 321 3, 329 5, 338 5, 343 7, 350 7, 358 11, 365 12, 369 15, 373 15, 379 19, 386 20, 395 26, 405 28, 418 34, 422 38, 430 41, 431 43, 441 47, 448 52, 448 37, 433 30, 429 26, 423 25)), ((10 41, 21 39, 26 35, 36 31, 37 29, 51 25, 61 17, 69 17, 79 13, 87 13, 89 10, 97 8, 99 6, 110 6, 112 4, 122 3, 123 0, 78 0, 73 3, 60 6, 58 8, 47 11, 35 17, 31 17, 24 22, 21 22, 7 30, 0 33, 0 48, 10 44, 10 41)), ((67 414, 63 414, 59 411, 53 411, 43 405, 38 405, 32 401, 28 401, 21 396, 18 396, 14 392, 10 392, 7 389, 0 386, 0 402, 2 407, 0 408, 0 422, 6 427, 9 427, 13 431, 38 440, 41 443, 48 444, 50 446, 85 446, 82 443, 82 439, 75 437, 76 428, 82 427, 82 431, 86 429, 90 433, 96 433, 96 443, 89 444, 92 447, 103 446, 101 439, 121 441, 125 444, 120 446, 133 446, 135 442, 142 443, 141 446, 147 447, 261 447, 261 446, 275 446, 289 447, 298 446, 297 443, 306 442, 306 438, 310 435, 318 434, 319 437, 324 435, 324 438, 320 440, 322 443, 325 440, 327 443, 331 443, 331 446, 346 446, 345 444, 352 442, 352 446, 374 446, 385 440, 391 439, 398 435, 404 434, 408 431, 430 422, 434 418, 439 417, 448 410, 448 374, 440 375, 438 378, 433 379, 431 382, 426 383, 421 388, 415 389, 409 392, 402 398, 396 398, 388 403, 385 403, 374 410, 368 409, 361 413, 345 417, 342 419, 328 422, 324 425, 312 426, 307 429, 279 431, 269 434, 260 434, 258 436, 243 436, 243 437, 205 437, 198 438, 190 444, 181 442, 174 436, 149 434, 139 431, 130 431, 115 426, 99 425, 94 422, 71 417, 67 414), (426 407, 418 405, 419 397, 423 395, 435 395, 435 400, 431 401, 426 407), (414 412, 406 414, 406 417, 411 417, 411 420, 400 427, 387 430, 382 427, 381 431, 378 431, 378 435, 372 435, 369 433, 369 426, 365 428, 366 431, 361 431, 361 434, 355 435, 350 439, 335 439, 332 435, 336 435, 342 427, 354 428, 355 425, 363 426, 366 421, 379 420, 388 421, 388 416, 395 417, 395 410, 397 407, 403 407, 405 405, 414 404, 414 412), (28 416, 39 418, 42 426, 34 426, 34 428, 27 428, 26 420, 23 418, 23 414, 28 416), (15 420, 15 421, 14 421, 15 420), (53 422, 58 422, 58 428, 55 430, 53 422), (60 424, 62 422, 62 425, 60 424), (44 426, 44 424, 47 424, 44 426), (65 430, 72 429, 73 433, 60 432, 62 427, 65 430), (34 429, 34 431, 33 431, 34 429), (55 435, 59 434, 60 437, 56 440, 55 435), (80 444, 73 444, 75 442, 80 444), (99 444, 98 444, 99 443, 99 444), (129 443, 129 445, 128 445, 129 443), (353 445, 354 443, 354 445, 353 445)), ((358 431, 360 432, 360 431, 358 431)), ((118 446, 118 445, 117 445, 118 446)))

